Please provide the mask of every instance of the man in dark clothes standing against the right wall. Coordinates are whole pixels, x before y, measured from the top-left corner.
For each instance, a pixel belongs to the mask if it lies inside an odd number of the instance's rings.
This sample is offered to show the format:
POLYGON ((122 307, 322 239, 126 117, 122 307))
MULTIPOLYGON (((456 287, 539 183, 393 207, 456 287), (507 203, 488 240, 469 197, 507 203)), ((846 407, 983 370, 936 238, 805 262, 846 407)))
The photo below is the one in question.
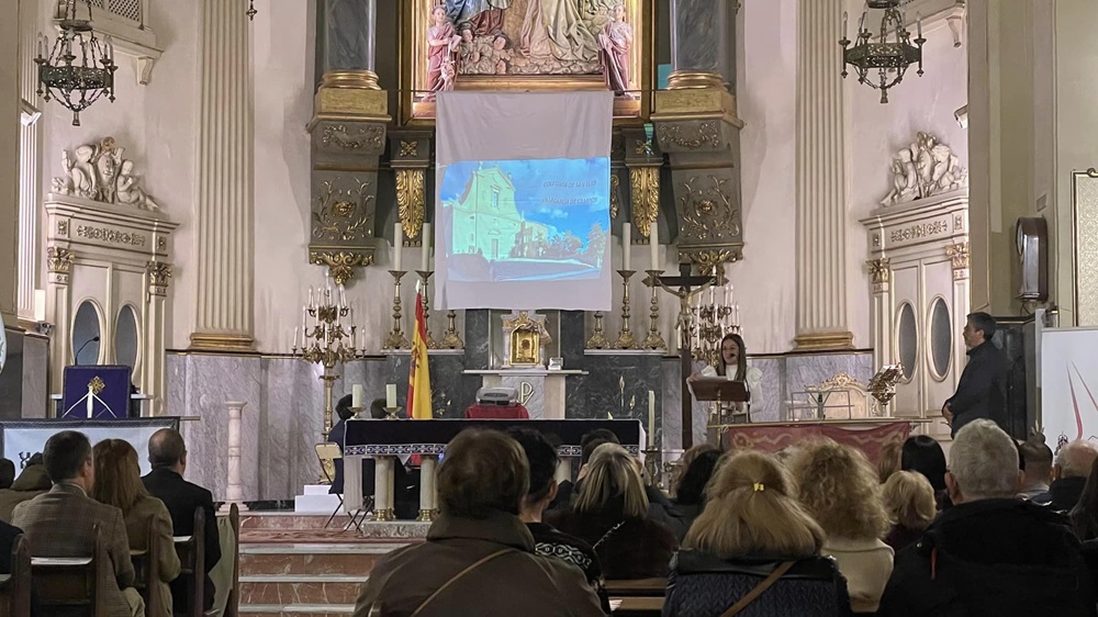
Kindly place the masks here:
POLYGON ((961 427, 976 418, 993 419, 1002 428, 1006 425, 1004 416, 1010 362, 991 343, 995 317, 987 313, 970 314, 962 335, 968 348, 968 363, 961 373, 956 392, 945 401, 942 416, 952 427, 954 436, 961 427))

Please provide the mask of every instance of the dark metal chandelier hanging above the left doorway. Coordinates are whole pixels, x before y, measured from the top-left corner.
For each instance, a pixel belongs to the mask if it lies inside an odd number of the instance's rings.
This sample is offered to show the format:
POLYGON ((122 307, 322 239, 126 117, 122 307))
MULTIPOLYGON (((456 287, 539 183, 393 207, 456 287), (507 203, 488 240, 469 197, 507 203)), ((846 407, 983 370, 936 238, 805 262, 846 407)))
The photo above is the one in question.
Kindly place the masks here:
POLYGON ((38 34, 38 94, 46 101, 57 99, 72 111, 72 126, 80 126, 80 112, 103 94, 114 102, 114 45, 108 36, 100 43, 91 25, 91 2, 88 19, 76 16, 77 0, 67 0, 58 22, 60 34, 47 55, 49 40, 38 34))

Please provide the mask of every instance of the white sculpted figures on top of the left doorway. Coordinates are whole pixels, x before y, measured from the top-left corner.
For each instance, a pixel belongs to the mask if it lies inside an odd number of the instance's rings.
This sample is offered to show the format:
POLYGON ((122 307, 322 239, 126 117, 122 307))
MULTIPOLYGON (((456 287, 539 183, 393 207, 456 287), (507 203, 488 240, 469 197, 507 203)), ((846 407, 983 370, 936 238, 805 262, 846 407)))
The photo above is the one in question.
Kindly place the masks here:
POLYGON ((61 150, 64 176, 54 178, 53 192, 141 210, 158 211, 159 204, 141 186, 133 172, 134 162, 122 158, 114 137, 104 137, 98 145, 85 144, 74 150, 61 150))

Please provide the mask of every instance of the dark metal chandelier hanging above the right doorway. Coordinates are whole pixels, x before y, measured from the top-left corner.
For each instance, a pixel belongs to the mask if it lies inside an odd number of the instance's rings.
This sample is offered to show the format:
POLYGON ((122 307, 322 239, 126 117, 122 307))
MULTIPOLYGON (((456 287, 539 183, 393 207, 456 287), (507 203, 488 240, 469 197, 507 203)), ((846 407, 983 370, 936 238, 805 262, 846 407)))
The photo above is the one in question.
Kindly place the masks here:
POLYGON ((858 35, 854 46, 847 38, 847 13, 842 13, 842 77, 847 77, 847 65, 854 67, 858 82, 881 90, 881 102, 888 102, 888 89, 904 81, 904 74, 909 66, 919 64, 919 77, 922 77, 922 20, 918 20, 918 32, 915 41, 911 33, 904 27, 904 14, 899 11, 900 0, 866 0, 862 19, 858 21, 858 35), (884 9, 881 19, 881 32, 876 40, 870 29, 865 27, 865 16, 870 9, 884 9), (914 43, 914 45, 912 45, 914 43), (874 75, 873 71, 876 70, 874 75))

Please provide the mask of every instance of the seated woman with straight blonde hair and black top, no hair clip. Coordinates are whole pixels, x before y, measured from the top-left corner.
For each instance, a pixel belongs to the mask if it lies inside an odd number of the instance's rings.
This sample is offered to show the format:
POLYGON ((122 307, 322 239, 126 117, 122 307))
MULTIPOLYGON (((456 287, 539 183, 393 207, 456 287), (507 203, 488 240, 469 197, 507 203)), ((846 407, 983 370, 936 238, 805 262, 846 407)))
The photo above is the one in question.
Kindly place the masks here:
POLYGON ((617 444, 595 448, 572 508, 546 521, 590 543, 608 580, 666 576, 679 548, 666 527, 648 518, 638 461, 617 444))

